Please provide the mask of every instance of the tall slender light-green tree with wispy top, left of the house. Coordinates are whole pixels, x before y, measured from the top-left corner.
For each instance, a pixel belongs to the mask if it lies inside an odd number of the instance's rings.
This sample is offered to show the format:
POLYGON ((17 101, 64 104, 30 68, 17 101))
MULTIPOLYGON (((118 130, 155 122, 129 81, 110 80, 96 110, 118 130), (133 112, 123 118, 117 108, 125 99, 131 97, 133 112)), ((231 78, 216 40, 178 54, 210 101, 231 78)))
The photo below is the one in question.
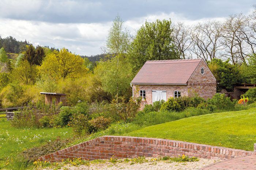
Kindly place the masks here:
POLYGON ((116 16, 109 29, 106 47, 109 60, 102 60, 95 68, 95 74, 102 82, 103 90, 112 95, 125 94, 129 89, 130 70, 126 59, 129 36, 120 16, 116 16))

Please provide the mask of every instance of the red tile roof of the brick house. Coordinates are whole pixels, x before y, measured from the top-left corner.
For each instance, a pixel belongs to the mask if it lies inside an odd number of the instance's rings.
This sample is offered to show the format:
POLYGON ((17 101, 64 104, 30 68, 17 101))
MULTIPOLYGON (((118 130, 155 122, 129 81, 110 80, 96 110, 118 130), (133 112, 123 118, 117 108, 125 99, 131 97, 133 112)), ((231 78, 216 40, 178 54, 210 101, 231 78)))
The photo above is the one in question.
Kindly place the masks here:
POLYGON ((202 59, 147 61, 132 84, 187 84, 202 59))

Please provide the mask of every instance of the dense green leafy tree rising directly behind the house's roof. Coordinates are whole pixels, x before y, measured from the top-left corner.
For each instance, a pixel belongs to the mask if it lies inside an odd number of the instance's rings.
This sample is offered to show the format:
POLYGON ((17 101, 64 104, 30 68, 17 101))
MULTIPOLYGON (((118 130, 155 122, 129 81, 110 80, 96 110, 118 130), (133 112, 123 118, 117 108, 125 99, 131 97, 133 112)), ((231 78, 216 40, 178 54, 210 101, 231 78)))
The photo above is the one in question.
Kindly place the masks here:
POLYGON ((129 60, 136 73, 147 60, 179 59, 174 45, 171 20, 157 20, 140 27, 129 48, 129 60))

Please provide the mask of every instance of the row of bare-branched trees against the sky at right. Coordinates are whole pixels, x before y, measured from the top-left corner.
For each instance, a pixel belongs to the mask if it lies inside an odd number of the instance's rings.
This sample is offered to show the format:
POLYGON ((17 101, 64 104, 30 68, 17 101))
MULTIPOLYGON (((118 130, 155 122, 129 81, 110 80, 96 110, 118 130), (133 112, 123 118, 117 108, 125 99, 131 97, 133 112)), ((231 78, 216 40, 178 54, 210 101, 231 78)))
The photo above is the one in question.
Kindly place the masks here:
POLYGON ((172 25, 174 44, 181 58, 229 59, 233 64, 246 63, 255 55, 256 13, 230 15, 225 21, 208 20, 196 25, 172 25))

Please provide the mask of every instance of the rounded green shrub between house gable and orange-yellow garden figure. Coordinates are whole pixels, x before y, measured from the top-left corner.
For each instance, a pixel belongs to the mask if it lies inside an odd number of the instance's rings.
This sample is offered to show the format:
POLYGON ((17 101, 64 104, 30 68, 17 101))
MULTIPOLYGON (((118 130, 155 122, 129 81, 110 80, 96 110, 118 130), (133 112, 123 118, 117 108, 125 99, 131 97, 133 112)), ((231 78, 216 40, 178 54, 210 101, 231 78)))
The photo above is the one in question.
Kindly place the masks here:
POLYGON ((230 97, 226 97, 224 94, 216 93, 211 99, 208 99, 207 104, 213 105, 217 110, 230 110, 234 109, 235 102, 230 100, 230 97))

